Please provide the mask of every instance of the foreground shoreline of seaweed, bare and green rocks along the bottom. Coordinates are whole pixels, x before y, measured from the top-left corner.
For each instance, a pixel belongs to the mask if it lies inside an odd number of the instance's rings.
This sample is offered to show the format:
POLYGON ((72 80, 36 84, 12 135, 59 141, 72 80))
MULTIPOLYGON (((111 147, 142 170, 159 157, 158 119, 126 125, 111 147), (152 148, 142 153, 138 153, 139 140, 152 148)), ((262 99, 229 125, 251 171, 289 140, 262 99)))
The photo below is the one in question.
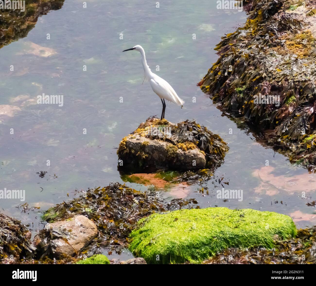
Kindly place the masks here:
POLYGON ((316 262, 316 226, 297 230, 289 216, 269 211, 200 209, 192 199, 164 202, 156 192, 119 183, 50 208, 33 240, 21 222, 1 216, 0 264, 316 262), (128 248, 135 258, 109 260, 98 254, 104 247, 128 248))

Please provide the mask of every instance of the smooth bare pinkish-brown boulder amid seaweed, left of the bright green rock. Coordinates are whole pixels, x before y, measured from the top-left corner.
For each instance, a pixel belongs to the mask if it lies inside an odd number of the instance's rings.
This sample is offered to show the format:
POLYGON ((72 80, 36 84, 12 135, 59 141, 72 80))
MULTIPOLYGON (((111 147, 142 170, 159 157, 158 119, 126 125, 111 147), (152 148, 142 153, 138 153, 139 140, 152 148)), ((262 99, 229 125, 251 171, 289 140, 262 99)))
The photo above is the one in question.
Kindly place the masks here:
MULTIPOLYGON (((56 238, 51 240, 54 256, 60 256, 61 254, 71 256, 88 245, 98 234, 94 222, 83 215, 73 216, 64 221, 48 223, 45 229, 56 235, 56 238), (62 237, 66 238, 67 242, 62 237)), ((39 235, 34 237, 34 245, 41 245, 42 242, 43 238, 39 235)), ((43 246, 45 246, 45 243, 43 243, 43 246)))

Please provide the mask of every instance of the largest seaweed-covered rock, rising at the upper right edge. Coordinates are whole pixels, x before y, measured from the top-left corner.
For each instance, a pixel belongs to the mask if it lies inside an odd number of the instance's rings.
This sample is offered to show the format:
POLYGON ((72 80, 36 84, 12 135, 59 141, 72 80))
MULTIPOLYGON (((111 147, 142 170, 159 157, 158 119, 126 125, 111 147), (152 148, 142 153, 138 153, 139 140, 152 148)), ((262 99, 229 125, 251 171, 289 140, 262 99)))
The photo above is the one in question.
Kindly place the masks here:
POLYGON ((316 166, 316 1, 245 0, 244 27, 222 38, 197 85, 291 162, 316 166))

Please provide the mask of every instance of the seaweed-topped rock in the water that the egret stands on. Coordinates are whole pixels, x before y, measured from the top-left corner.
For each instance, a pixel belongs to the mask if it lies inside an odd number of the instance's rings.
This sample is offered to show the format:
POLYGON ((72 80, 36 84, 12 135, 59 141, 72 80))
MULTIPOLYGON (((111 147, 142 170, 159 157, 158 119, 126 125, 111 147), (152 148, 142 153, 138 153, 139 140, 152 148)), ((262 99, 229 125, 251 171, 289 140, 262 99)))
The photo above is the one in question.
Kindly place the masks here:
POLYGON ((149 118, 122 139, 117 154, 119 167, 191 170, 220 166, 227 151, 221 137, 195 121, 149 118))

